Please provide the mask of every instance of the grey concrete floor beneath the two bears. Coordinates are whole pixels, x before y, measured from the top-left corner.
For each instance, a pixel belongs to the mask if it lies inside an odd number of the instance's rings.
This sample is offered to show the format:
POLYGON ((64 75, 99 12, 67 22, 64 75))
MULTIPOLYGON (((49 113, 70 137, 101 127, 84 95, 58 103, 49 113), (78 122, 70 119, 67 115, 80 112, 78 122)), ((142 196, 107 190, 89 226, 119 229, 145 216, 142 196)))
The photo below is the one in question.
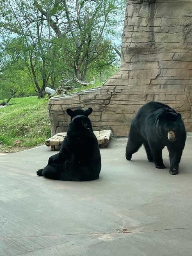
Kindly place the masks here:
POLYGON ((0 156, 0 256, 191 256, 192 138, 180 174, 155 169, 144 149, 125 160, 127 139, 101 149, 89 182, 36 176, 46 146, 0 156))

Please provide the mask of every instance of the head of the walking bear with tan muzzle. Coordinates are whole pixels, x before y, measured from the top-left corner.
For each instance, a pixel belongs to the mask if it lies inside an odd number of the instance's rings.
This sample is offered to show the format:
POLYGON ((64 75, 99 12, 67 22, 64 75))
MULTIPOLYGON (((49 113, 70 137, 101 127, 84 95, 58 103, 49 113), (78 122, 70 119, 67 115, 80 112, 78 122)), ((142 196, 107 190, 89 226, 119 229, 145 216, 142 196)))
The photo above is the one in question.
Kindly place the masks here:
POLYGON ((158 115, 158 130, 163 137, 167 137, 170 142, 176 141, 180 136, 181 129, 183 129, 183 121, 181 114, 170 109, 163 110, 158 115))

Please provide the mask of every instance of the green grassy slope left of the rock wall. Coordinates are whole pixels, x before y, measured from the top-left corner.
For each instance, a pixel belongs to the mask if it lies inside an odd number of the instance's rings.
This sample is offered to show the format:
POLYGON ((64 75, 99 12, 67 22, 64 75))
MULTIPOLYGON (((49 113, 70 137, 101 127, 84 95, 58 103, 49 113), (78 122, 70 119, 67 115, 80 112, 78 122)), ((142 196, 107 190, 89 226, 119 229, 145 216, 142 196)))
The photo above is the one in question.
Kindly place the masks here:
POLYGON ((44 144, 50 137, 48 101, 37 97, 14 98, 0 108, 0 153, 44 144))

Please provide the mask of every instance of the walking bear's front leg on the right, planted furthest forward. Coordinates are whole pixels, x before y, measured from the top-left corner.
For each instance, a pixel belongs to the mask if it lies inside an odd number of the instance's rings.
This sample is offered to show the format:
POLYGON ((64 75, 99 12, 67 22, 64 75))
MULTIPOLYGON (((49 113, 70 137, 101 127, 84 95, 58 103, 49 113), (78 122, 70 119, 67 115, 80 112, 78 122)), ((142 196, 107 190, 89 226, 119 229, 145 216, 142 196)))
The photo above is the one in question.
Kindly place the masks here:
POLYGON ((173 149, 173 148, 168 148, 168 150, 169 150, 169 160, 170 160, 169 173, 171 175, 176 175, 178 174, 178 166, 181 161, 181 155, 183 151, 178 149, 173 149))

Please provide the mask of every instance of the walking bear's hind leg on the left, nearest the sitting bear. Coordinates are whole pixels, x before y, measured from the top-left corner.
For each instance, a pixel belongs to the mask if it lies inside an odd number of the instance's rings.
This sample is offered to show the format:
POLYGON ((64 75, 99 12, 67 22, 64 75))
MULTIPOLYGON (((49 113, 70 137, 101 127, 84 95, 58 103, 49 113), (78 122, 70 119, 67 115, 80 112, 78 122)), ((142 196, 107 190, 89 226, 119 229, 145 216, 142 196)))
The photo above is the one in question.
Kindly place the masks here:
POLYGON ((142 146, 143 140, 142 137, 134 131, 134 129, 130 128, 129 138, 126 146, 126 159, 131 160, 132 155, 138 151, 138 149, 142 146))

